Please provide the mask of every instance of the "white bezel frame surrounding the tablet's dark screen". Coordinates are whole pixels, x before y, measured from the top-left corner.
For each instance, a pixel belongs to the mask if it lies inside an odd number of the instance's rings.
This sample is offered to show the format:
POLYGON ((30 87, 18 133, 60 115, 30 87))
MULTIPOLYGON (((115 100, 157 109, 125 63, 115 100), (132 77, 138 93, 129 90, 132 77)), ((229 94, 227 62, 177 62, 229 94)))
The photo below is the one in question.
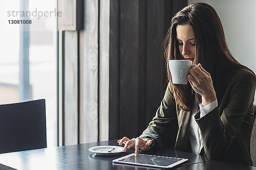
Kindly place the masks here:
MULTIPOLYGON (((140 154, 139 155, 145 155, 145 156, 156 156, 156 155, 146 155, 146 154, 140 154)), ((126 162, 126 161, 120 161, 121 159, 125 159, 128 157, 134 156, 134 153, 131 153, 129 155, 126 156, 122 156, 121 158, 118 159, 114 159, 113 162, 114 163, 122 163, 122 164, 134 164, 134 165, 140 165, 140 166, 147 166, 147 167, 160 167, 160 168, 171 168, 171 167, 175 167, 178 164, 181 164, 185 161, 188 161, 189 159, 184 159, 184 158, 176 158, 176 157, 167 157, 167 156, 156 156, 156 157, 162 157, 162 158, 173 158, 173 159, 181 159, 180 161, 177 161, 175 163, 169 164, 167 166, 163 166, 163 165, 154 165, 154 164, 143 164, 143 163, 136 163, 136 162, 126 162)))

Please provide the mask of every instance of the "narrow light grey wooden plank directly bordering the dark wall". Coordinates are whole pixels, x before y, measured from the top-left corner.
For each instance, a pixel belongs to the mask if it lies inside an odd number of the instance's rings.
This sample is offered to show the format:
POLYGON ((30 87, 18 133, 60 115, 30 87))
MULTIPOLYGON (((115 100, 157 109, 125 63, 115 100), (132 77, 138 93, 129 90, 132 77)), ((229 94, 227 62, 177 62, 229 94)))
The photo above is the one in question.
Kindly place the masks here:
POLYGON ((99 141, 108 140, 110 0, 99 1, 99 141))

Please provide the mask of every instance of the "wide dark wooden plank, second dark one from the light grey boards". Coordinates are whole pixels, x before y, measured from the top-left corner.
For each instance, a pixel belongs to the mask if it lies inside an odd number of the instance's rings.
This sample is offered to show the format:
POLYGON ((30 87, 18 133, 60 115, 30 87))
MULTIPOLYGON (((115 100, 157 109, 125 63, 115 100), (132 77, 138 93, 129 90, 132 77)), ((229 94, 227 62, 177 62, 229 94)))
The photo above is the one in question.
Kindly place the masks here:
POLYGON ((145 127, 145 0, 121 0, 120 16, 119 136, 132 137, 145 127))

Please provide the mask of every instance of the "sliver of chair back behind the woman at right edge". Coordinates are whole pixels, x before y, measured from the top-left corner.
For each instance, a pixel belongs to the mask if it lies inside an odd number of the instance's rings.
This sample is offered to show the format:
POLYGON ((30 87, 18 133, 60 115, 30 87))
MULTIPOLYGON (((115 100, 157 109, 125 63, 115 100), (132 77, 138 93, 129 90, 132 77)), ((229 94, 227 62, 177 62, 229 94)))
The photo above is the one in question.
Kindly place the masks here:
POLYGON ((256 167, 256 106, 253 106, 254 109, 254 123, 253 123, 253 130, 250 139, 250 153, 253 161, 253 166, 256 167))

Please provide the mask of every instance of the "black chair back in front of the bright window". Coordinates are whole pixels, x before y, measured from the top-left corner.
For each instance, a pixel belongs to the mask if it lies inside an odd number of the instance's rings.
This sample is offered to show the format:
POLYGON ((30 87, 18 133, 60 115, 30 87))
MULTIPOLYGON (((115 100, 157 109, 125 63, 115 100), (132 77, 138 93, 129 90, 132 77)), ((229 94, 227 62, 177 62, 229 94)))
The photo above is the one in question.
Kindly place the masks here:
POLYGON ((45 99, 0 105, 0 153, 44 147, 45 99))

